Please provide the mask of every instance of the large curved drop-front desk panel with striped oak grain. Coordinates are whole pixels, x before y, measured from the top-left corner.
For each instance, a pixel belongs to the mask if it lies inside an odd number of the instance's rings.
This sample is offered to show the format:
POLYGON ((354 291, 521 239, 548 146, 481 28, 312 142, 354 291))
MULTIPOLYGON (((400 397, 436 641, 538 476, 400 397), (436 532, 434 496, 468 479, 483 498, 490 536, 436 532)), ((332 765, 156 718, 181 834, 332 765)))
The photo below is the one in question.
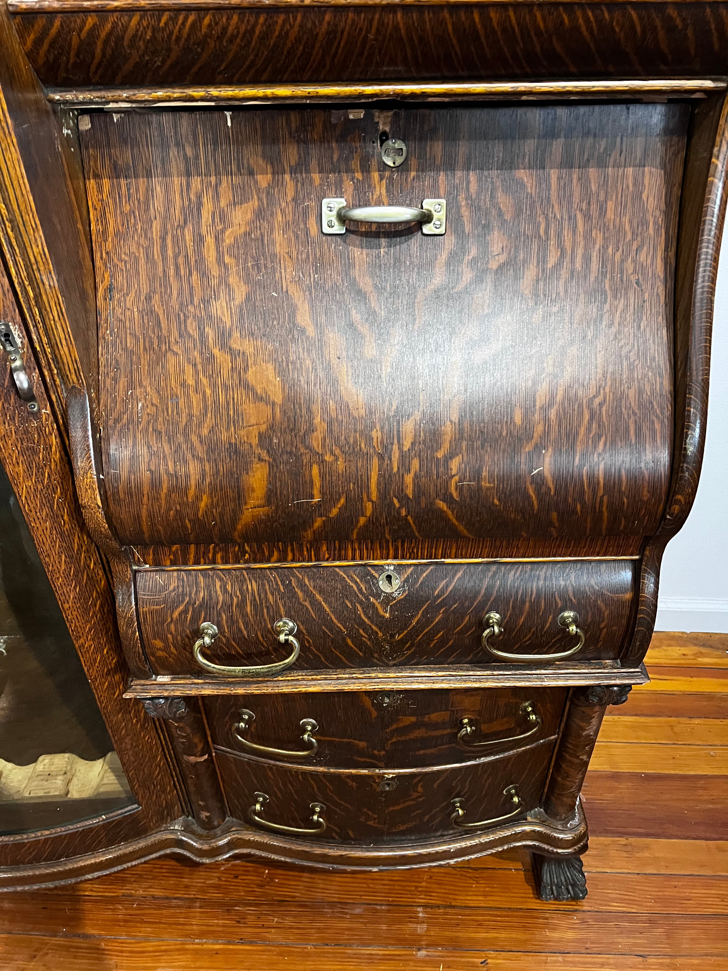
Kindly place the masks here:
POLYGON ((656 527, 687 109, 395 116, 410 157, 386 174, 372 112, 82 133, 124 542, 656 527), (325 237, 324 195, 459 204, 442 238, 325 237))

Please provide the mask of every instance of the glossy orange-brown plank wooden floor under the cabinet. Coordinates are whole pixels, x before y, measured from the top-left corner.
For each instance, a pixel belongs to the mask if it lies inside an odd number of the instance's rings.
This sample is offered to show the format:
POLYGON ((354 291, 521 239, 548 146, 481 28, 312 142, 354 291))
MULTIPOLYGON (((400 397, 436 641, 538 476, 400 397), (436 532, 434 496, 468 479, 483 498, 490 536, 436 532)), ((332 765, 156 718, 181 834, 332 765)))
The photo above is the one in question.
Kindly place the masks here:
POLYGON ((542 904, 518 854, 382 874, 167 858, 0 895, 0 968, 728 969, 728 635, 658 634, 647 667, 587 776, 581 903, 542 904))

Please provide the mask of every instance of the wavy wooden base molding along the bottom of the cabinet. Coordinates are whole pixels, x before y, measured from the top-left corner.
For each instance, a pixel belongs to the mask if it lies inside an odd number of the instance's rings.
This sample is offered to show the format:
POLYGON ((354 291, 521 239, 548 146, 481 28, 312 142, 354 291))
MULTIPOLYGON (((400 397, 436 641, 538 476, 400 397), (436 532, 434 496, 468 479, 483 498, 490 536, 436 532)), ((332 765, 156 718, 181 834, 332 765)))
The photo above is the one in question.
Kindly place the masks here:
POLYGON ((163 854, 177 854, 200 863, 257 856, 326 870, 387 870, 445 865, 516 847, 530 850, 534 858, 547 854, 549 860, 572 859, 574 854, 586 850, 588 834, 580 803, 568 826, 539 815, 541 819, 518 820, 483 833, 453 834, 450 839, 377 848, 287 839, 258 832, 239 820, 226 820, 211 832, 194 820, 183 818, 148 836, 97 853, 22 868, 3 867, 0 890, 60 887, 114 873, 163 854))

